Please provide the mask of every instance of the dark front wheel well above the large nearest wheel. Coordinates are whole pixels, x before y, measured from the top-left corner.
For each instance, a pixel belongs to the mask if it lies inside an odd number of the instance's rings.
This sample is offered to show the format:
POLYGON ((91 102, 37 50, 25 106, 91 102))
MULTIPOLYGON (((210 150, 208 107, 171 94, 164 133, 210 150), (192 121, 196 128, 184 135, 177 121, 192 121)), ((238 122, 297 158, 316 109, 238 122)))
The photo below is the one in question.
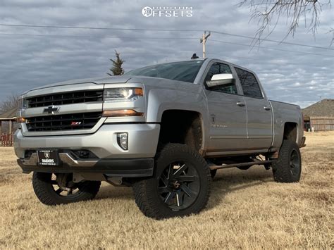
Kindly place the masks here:
POLYGON ((202 116, 195 111, 164 111, 159 143, 180 143, 199 151, 203 142, 202 116))

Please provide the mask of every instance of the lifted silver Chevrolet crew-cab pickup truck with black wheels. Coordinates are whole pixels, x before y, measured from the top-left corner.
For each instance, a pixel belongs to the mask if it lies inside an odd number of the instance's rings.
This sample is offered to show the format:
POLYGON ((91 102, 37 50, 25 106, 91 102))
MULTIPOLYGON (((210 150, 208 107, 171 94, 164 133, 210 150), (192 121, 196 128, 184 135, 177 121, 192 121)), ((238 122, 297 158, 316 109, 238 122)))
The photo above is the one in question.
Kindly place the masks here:
POLYGON ((298 182, 299 106, 269 101, 251 70, 218 59, 71 80, 20 97, 15 152, 47 205, 131 186, 151 218, 199 213, 218 169, 264 165, 298 182))

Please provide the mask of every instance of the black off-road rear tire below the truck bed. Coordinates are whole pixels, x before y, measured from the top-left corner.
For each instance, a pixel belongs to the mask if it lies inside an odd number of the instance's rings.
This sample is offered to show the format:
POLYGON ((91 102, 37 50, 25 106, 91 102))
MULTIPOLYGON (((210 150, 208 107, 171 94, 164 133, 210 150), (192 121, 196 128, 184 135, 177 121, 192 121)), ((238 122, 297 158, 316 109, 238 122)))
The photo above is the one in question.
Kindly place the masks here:
POLYGON ((278 160, 273 162, 273 179, 276 182, 299 182, 302 173, 302 158, 296 142, 284 139, 278 160), (292 155, 296 163, 292 164, 292 155), (294 165, 292 167, 292 165, 294 165))

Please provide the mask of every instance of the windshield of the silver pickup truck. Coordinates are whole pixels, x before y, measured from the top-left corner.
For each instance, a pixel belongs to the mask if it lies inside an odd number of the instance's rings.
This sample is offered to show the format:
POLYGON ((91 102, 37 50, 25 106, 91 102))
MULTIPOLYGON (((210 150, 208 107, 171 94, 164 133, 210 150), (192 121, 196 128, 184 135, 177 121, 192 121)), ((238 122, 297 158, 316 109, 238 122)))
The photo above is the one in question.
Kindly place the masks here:
POLYGON ((194 82, 203 61, 184 61, 177 63, 162 63, 158 65, 131 70, 125 75, 143 75, 160 77, 183 82, 194 82))

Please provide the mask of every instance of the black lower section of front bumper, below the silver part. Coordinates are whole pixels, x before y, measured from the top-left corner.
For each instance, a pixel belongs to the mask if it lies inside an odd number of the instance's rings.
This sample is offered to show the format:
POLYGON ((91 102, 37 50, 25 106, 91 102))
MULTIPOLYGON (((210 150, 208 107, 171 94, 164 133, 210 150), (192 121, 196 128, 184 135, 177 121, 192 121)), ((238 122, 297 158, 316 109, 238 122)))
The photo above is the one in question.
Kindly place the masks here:
POLYGON ((18 165, 23 173, 102 173, 118 177, 147 177, 153 175, 153 158, 78 160, 68 153, 60 153, 61 164, 41 166, 37 164, 37 154, 29 158, 19 158, 18 165))

